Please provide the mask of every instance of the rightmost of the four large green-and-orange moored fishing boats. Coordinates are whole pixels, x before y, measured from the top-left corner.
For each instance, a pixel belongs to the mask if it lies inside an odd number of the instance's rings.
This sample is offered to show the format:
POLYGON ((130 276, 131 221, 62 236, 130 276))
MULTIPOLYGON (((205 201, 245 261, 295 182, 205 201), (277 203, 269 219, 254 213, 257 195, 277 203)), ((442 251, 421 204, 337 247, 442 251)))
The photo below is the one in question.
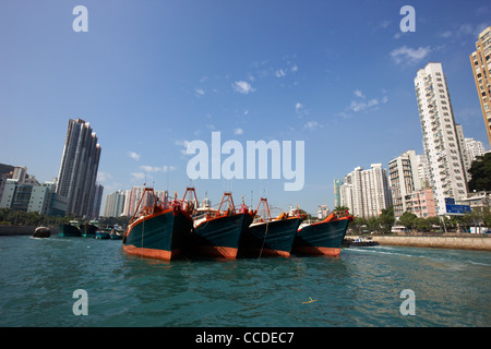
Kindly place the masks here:
POLYGON ((352 219, 348 210, 339 210, 318 222, 303 221, 295 237, 292 253, 338 256, 348 224, 352 219))

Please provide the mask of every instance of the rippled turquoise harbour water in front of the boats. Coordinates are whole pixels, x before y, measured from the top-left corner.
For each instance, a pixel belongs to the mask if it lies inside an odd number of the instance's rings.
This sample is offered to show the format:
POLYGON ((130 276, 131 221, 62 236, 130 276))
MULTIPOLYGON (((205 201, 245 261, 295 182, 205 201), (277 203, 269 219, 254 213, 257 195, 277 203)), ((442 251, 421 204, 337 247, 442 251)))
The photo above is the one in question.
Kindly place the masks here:
POLYGON ((491 326, 491 253, 160 262, 121 240, 0 238, 0 326, 491 326), (73 292, 87 292, 75 315, 73 292), (402 315, 415 293, 415 315, 402 315))

